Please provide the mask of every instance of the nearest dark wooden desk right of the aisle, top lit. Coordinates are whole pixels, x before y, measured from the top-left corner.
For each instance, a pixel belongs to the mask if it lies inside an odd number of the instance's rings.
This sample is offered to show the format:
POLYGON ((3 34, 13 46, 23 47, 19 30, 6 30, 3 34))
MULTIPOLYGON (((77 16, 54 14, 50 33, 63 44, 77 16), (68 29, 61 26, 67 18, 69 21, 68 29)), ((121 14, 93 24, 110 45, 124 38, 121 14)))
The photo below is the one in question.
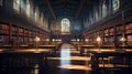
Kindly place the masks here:
POLYGON ((131 66, 132 51, 107 50, 107 51, 88 51, 87 53, 91 53, 91 67, 92 68, 100 67, 99 66, 99 59, 100 57, 103 61, 105 57, 109 57, 109 56, 127 59, 127 61, 124 61, 125 65, 128 65, 128 67, 132 67, 131 66))

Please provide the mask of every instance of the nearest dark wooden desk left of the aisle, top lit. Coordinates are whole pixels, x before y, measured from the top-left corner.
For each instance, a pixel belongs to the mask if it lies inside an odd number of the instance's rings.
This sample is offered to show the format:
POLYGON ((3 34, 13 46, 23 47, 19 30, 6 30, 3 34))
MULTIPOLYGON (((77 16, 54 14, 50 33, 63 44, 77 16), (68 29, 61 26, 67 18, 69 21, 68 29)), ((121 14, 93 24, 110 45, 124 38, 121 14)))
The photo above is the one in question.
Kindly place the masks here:
POLYGON ((1 67, 33 67, 38 64, 43 67, 47 64, 48 50, 9 50, 0 51, 0 66, 1 67))

